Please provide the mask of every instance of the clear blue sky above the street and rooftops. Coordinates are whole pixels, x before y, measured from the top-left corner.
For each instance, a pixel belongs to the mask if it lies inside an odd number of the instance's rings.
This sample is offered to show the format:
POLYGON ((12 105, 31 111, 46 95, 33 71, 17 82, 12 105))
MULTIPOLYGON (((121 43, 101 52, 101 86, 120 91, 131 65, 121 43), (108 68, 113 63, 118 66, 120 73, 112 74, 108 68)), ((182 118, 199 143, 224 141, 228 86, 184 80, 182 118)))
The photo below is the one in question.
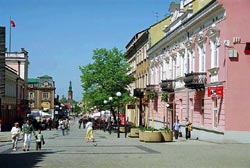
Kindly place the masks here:
POLYGON ((29 78, 49 75, 60 98, 81 100, 79 66, 92 62, 93 50, 125 46, 138 32, 168 14, 171 0, 1 0, 0 26, 11 51, 29 52, 29 78))

